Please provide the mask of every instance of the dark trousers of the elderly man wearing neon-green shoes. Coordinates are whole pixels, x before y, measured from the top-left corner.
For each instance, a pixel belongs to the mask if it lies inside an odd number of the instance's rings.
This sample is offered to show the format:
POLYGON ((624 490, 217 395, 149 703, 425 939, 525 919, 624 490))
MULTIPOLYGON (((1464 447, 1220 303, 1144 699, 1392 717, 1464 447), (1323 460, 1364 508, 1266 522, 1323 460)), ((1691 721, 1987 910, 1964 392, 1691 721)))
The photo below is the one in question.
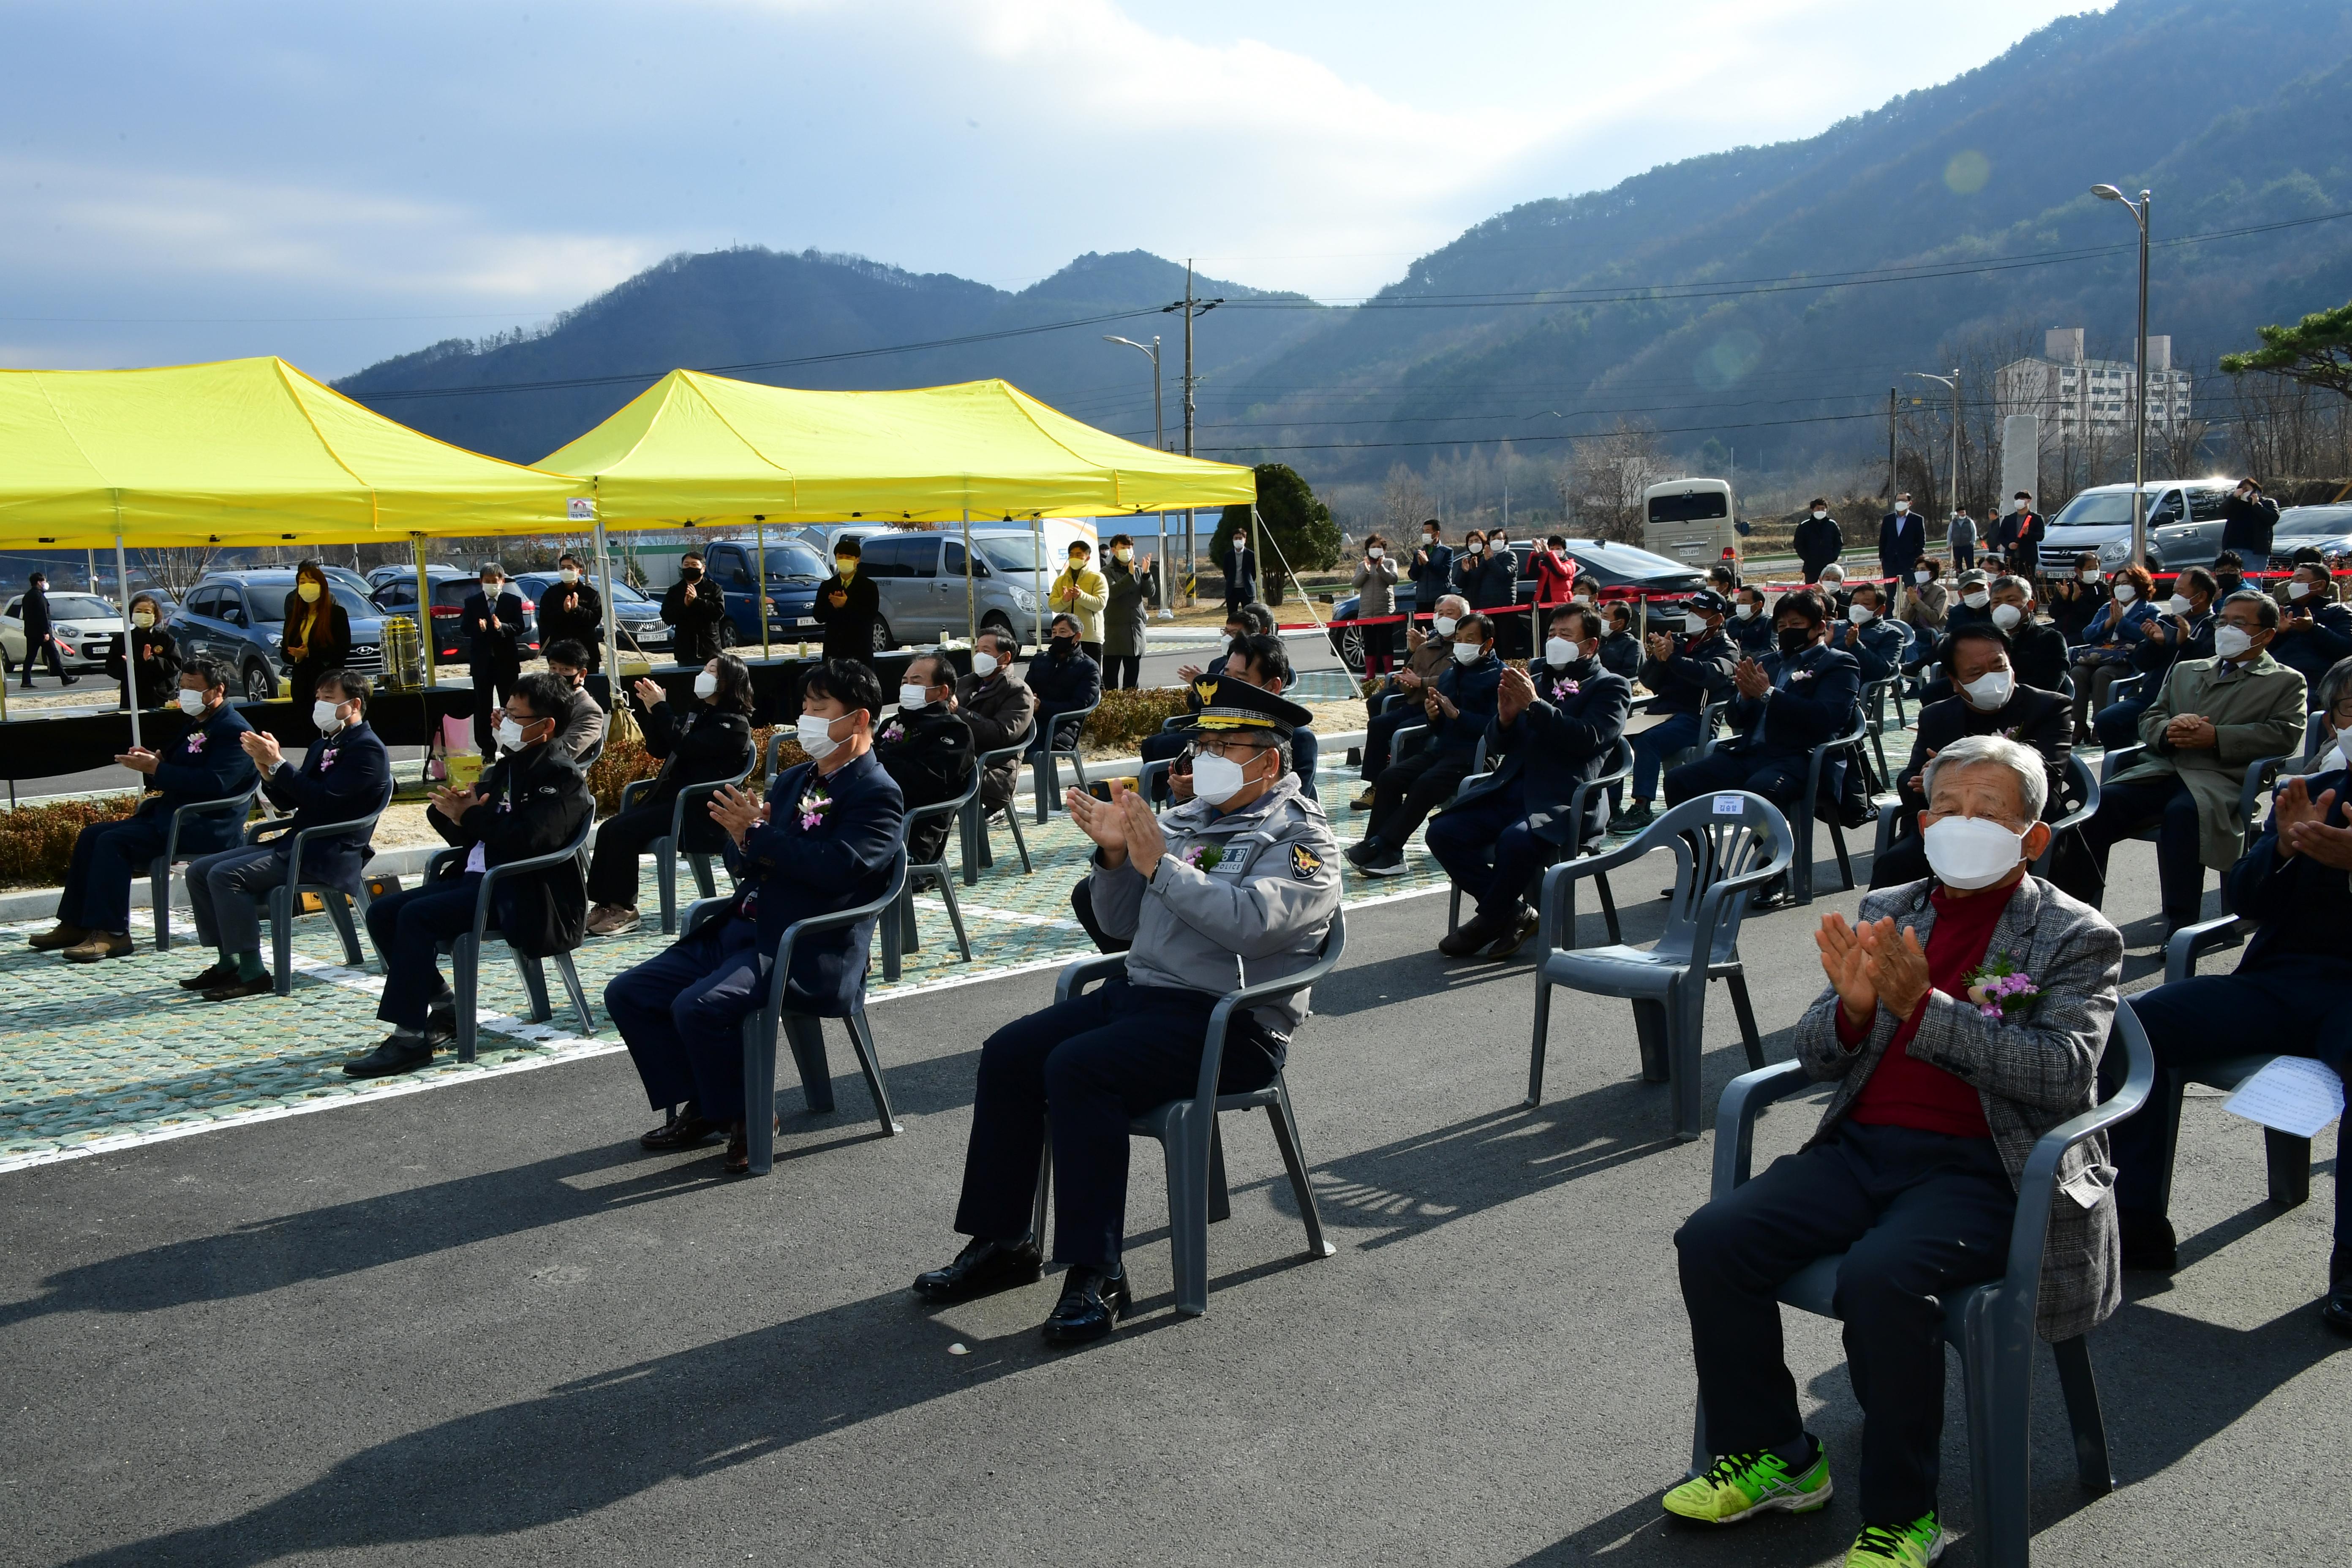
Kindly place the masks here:
POLYGON ((1863 1523, 1936 1507, 1943 1295, 2006 1267, 2016 1190, 1990 1138, 1842 1124, 1675 1232, 1708 1450, 1755 1453, 1804 1429, 1776 1291, 1844 1253, 1837 1316, 1863 1406, 1863 1523))

